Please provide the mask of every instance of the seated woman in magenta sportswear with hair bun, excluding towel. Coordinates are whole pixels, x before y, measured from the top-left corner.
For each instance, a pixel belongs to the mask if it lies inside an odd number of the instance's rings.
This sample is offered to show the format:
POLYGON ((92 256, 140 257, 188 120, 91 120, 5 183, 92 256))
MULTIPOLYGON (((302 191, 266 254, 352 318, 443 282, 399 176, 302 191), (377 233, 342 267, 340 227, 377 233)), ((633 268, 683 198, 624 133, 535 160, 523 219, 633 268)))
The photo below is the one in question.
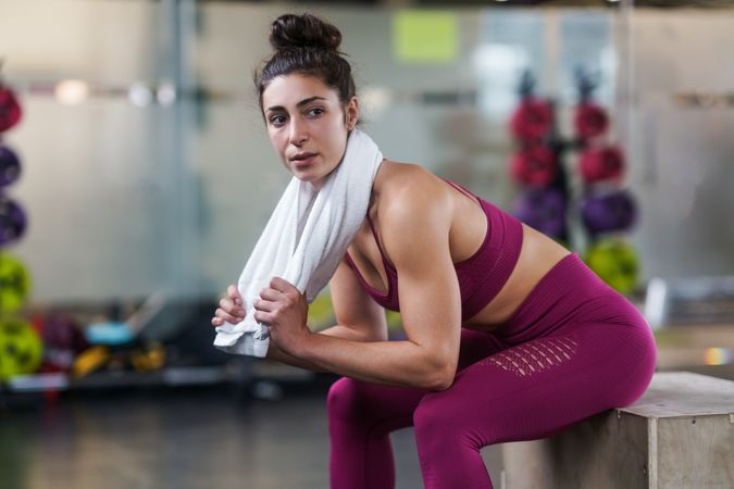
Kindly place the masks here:
MULTIPOLYGON (((256 73, 275 152, 315 187, 359 118, 340 39, 309 14, 283 15, 256 73)), ((338 324, 318 334, 281 278, 254 308, 268 358, 344 376, 327 399, 333 488, 394 487, 388 435, 407 426, 425 487, 490 488, 482 447, 627 405, 655 367, 645 319, 575 253, 420 165, 382 162, 329 285, 338 324), (405 340, 387 340, 383 308, 399 309, 405 340)), ((241 304, 229 286, 212 324, 240 322, 241 304)))

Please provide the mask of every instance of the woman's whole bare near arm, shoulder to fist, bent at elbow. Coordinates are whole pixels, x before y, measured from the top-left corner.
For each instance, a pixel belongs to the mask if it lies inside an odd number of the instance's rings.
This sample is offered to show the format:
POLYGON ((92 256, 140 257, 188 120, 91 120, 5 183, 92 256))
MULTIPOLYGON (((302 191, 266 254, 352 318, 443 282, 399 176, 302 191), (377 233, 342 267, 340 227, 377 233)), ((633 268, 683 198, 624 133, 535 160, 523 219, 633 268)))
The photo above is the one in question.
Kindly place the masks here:
POLYGON ((380 204, 383 244, 400 279, 407 340, 362 342, 310 334, 296 312, 298 298, 286 290, 285 280, 274 279, 274 288, 256 308, 258 321, 271 325, 286 353, 372 383, 437 390, 451 385, 459 355, 461 303, 448 247, 452 206, 448 195, 434 185, 432 179, 416 178, 390 196, 385 192, 380 204))

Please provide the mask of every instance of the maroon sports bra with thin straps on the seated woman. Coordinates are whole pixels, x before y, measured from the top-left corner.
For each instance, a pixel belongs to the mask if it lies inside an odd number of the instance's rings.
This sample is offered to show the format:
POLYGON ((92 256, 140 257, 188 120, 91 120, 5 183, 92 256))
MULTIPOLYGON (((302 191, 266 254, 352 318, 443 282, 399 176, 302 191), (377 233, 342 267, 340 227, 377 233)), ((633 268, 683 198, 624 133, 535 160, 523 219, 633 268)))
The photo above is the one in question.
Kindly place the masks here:
MULTIPOLYGON (((459 189, 459 191, 464 191, 465 195, 475 198, 487 216, 487 234, 485 235, 480 249, 466 260, 453 264, 459 280, 459 289, 461 291, 461 319, 466 321, 488 304, 510 277, 510 274, 518 262, 518 258, 520 256, 520 249, 522 247, 522 224, 515 217, 509 215, 489 201, 473 195, 468 189, 453 181, 447 180, 446 178, 444 179, 455 188, 459 189)), ((382 293, 366 283, 364 277, 362 277, 357 269, 349 253, 345 254, 347 264, 354 271, 354 274, 357 274, 357 277, 368 293, 372 296, 380 305, 391 311, 400 311, 400 303, 398 300, 398 273, 395 269, 395 266, 385 256, 383 248, 380 244, 380 238, 369 214, 366 218, 372 228, 372 234, 375 237, 385 266, 385 273, 387 275, 387 292, 382 293)))

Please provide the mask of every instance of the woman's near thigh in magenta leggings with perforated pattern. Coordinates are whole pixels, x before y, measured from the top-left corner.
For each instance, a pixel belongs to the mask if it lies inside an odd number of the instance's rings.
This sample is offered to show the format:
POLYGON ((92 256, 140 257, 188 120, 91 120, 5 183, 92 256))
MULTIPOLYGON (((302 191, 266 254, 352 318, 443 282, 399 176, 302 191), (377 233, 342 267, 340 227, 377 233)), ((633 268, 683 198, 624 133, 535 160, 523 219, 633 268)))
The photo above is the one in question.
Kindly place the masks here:
POLYGON ((421 404, 481 446, 546 437, 642 394, 655 368, 647 336, 626 325, 569 325, 475 362, 421 404))

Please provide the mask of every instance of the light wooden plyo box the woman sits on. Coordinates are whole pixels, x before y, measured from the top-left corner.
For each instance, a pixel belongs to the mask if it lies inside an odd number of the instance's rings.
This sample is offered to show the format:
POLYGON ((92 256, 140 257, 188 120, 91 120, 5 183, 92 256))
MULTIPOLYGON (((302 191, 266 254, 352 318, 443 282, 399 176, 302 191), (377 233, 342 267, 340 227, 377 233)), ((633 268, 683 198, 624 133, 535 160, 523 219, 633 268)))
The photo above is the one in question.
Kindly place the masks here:
POLYGON ((502 457, 502 489, 732 489, 734 381, 658 373, 634 404, 502 457))

